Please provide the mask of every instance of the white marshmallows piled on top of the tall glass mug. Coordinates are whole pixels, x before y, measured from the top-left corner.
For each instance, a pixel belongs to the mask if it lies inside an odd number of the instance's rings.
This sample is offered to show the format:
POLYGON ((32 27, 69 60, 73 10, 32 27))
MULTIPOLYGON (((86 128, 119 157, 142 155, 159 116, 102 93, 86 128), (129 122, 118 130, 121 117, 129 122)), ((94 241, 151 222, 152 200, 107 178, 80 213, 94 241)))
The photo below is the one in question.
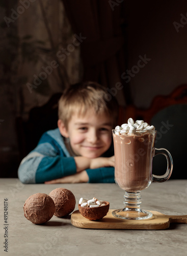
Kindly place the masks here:
POLYGON ((145 133, 146 131, 154 131, 155 127, 153 125, 149 125, 148 123, 144 122, 144 120, 136 120, 136 122, 132 119, 128 119, 128 123, 123 123, 121 126, 115 127, 115 134, 141 134, 145 133))

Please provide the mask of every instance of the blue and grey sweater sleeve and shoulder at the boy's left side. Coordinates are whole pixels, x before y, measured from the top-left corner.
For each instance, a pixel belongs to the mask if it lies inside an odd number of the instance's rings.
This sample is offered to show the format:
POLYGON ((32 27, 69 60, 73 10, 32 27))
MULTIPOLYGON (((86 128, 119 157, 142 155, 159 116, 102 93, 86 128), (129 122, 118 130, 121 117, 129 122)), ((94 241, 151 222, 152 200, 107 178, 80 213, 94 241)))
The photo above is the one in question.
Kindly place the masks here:
POLYGON ((52 132, 44 133, 37 147, 21 161, 18 178, 22 183, 43 183, 76 173, 74 158, 65 155, 59 131, 52 132))

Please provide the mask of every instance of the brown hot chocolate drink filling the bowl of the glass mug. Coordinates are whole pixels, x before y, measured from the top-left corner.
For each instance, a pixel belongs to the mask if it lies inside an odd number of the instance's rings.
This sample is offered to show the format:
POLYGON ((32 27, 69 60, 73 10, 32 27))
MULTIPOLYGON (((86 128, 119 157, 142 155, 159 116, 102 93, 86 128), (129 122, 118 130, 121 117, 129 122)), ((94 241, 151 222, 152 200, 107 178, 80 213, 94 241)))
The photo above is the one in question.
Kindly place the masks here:
POLYGON ((155 131, 136 134, 113 133, 115 181, 122 189, 136 192, 152 181, 152 158, 155 131))

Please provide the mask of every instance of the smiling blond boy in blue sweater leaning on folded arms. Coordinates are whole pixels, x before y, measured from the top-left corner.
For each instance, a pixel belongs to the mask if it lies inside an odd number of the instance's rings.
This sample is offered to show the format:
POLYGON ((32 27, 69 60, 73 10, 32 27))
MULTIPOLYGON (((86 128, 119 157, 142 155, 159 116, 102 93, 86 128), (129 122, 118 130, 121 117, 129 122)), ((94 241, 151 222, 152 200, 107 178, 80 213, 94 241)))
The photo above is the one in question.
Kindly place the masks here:
POLYGON ((118 104, 95 82, 77 83, 59 100, 58 128, 43 134, 20 163, 23 183, 114 182, 112 129, 118 104))

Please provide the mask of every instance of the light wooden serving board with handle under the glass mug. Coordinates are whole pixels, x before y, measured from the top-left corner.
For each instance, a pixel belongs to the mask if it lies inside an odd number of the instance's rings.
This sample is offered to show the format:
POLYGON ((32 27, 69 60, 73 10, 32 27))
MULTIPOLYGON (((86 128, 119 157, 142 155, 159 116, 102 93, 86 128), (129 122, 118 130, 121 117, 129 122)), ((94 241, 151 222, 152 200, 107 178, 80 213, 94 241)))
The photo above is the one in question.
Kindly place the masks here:
POLYGON ((112 215, 112 209, 98 221, 90 221, 83 217, 78 210, 71 215, 71 224, 79 228, 91 229, 166 229, 170 223, 187 224, 187 215, 164 215, 158 211, 151 211, 153 217, 148 220, 122 220, 112 215))

